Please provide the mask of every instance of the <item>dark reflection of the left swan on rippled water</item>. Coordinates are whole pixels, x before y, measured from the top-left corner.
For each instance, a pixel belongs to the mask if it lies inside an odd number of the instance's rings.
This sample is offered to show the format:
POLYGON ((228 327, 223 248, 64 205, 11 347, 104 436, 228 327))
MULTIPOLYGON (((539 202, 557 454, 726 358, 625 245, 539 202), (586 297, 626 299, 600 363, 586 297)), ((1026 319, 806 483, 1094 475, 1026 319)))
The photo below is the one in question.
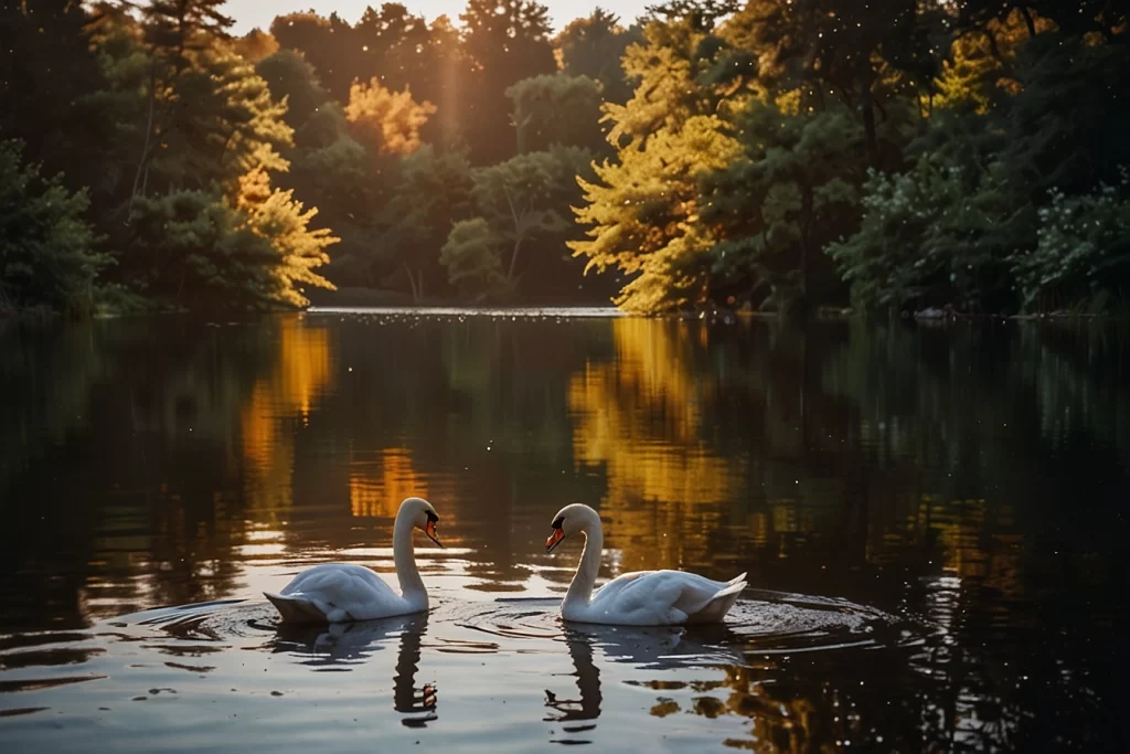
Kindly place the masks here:
POLYGON ((325 625, 280 624, 272 651, 303 657, 302 665, 318 671, 348 671, 399 639, 392 676, 392 708, 403 714, 400 722, 423 727, 437 719, 437 692, 434 683, 416 686, 427 614, 406 615, 380 621, 325 625))

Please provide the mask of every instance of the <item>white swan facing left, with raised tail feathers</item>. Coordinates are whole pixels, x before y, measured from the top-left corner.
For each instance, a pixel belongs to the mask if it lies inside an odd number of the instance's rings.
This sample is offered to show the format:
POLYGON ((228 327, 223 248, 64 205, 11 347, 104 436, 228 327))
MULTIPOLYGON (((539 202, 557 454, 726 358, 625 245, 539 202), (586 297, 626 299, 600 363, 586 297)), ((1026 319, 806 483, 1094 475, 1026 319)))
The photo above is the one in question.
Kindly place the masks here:
POLYGON ((603 530, 597 511, 588 505, 566 505, 553 522, 546 540, 551 553, 574 534, 585 536, 581 565, 562 601, 562 617, 579 623, 662 626, 720 623, 746 588, 746 574, 730 581, 713 581, 686 571, 636 571, 612 579, 596 593, 603 530))

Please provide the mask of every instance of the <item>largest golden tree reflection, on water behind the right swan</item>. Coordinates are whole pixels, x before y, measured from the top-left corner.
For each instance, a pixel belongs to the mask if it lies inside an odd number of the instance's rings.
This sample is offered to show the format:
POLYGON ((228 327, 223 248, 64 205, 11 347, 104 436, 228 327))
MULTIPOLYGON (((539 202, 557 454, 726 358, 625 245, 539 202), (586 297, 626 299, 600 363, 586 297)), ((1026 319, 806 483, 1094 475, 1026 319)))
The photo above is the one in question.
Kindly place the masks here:
POLYGON ((627 318, 611 328, 615 361, 589 362, 568 382, 575 463, 607 479, 600 511, 615 521, 607 544, 624 570, 679 564, 707 549, 716 517, 683 522, 699 504, 732 500, 740 467, 702 437, 712 387, 689 367, 705 328, 627 318))

